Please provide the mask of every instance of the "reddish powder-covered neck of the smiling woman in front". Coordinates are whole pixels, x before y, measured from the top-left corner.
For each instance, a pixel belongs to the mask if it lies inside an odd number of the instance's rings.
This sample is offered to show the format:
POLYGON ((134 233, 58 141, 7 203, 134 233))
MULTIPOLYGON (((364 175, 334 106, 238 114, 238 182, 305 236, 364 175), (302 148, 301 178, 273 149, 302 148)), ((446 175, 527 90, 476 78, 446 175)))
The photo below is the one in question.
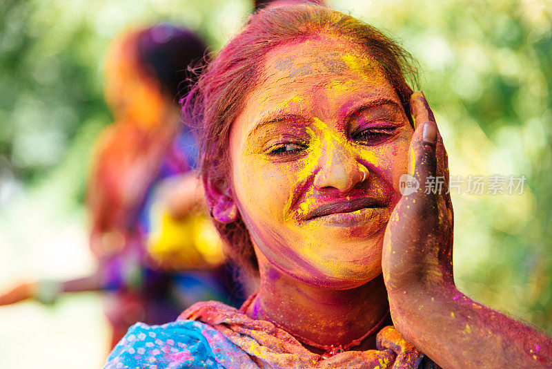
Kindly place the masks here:
MULTIPOLYGON (((260 252, 257 256, 261 285, 246 314, 272 321, 302 343, 348 346, 388 316, 387 291, 381 275, 350 290, 330 290, 303 283, 271 265, 260 252)), ((351 350, 375 349, 377 331, 351 350)))

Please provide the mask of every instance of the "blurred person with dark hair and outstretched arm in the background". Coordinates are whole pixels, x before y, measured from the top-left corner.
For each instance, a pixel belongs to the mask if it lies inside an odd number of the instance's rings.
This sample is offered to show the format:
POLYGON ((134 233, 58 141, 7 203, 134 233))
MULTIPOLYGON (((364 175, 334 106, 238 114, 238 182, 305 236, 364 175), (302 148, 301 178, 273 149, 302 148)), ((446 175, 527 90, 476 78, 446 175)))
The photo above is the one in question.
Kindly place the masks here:
POLYGON ((173 321, 196 301, 242 303, 233 267, 205 216, 195 138, 177 105, 188 88, 188 66, 205 52, 193 32, 167 24, 115 40, 106 60, 106 100, 115 122, 97 140, 88 181, 97 270, 71 281, 22 283, 1 294, 0 305, 110 292, 106 315, 114 346, 133 323, 173 321))

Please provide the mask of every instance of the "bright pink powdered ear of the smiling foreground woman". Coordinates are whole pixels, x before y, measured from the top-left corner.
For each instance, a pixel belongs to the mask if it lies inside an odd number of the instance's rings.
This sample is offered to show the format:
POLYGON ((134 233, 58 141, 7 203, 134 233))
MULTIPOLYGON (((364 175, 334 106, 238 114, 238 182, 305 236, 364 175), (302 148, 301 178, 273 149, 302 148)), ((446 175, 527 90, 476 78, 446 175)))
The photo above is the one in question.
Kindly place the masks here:
POLYGON ((237 219, 237 206, 234 202, 230 182, 226 178, 214 180, 208 176, 205 195, 211 216, 219 223, 232 223, 237 219))

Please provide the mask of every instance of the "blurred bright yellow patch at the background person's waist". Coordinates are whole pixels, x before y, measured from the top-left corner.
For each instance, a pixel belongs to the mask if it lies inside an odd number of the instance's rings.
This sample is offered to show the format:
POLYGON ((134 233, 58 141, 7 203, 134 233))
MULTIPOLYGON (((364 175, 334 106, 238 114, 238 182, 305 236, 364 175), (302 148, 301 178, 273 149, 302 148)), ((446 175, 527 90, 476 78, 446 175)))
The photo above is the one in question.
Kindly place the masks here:
POLYGON ((166 209, 154 213, 148 254, 161 269, 214 267, 224 261, 221 240, 204 214, 195 213, 175 220, 166 209))

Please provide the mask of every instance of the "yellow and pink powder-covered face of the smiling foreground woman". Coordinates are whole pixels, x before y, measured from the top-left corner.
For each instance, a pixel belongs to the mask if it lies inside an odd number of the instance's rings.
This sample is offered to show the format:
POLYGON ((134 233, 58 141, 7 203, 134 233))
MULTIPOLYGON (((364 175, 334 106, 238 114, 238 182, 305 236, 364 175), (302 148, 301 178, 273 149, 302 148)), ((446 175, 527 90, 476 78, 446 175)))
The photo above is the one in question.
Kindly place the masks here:
POLYGON ((375 278, 412 134, 358 46, 321 36, 268 53, 230 131, 233 200, 257 252, 320 287, 375 278))

